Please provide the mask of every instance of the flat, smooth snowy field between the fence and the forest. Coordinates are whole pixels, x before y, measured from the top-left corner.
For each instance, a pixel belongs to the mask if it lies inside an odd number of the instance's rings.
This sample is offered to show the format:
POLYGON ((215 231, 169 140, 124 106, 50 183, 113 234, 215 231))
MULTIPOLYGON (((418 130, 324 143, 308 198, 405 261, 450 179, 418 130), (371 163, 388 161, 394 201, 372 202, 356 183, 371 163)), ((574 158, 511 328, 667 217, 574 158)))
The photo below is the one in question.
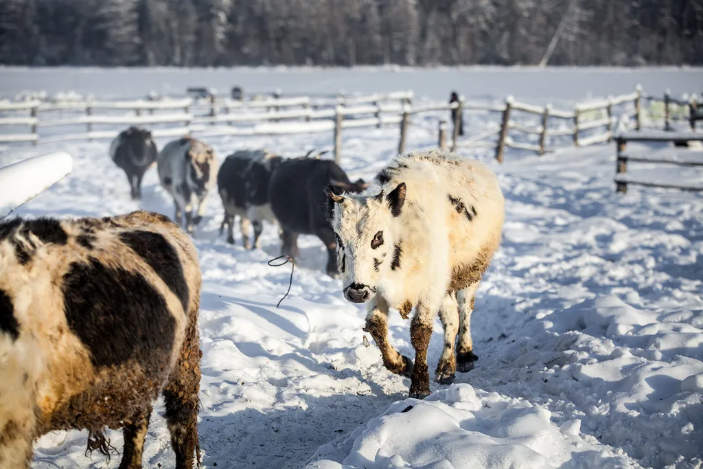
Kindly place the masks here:
POLYGON ((498 98, 512 94, 534 103, 576 101, 591 96, 631 93, 636 84, 662 96, 699 93, 703 68, 530 68, 460 67, 408 68, 23 68, 0 67, 0 97, 22 91, 55 94, 76 90, 101 97, 141 98, 185 93, 188 86, 214 87, 228 93, 233 86, 245 92, 288 94, 380 93, 411 89, 415 96, 445 101, 456 90, 467 98, 498 98))

